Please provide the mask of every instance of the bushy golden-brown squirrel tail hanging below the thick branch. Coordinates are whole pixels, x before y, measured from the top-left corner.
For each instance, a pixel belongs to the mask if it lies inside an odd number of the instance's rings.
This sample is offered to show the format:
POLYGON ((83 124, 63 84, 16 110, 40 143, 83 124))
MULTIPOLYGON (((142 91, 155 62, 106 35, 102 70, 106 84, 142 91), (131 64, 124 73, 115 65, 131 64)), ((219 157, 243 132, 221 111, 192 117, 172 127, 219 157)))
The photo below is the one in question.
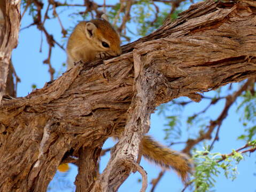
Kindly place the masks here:
POLYGON ((165 169, 173 169, 180 175, 182 181, 188 181, 193 163, 188 155, 166 148, 145 135, 141 141, 142 155, 165 169))

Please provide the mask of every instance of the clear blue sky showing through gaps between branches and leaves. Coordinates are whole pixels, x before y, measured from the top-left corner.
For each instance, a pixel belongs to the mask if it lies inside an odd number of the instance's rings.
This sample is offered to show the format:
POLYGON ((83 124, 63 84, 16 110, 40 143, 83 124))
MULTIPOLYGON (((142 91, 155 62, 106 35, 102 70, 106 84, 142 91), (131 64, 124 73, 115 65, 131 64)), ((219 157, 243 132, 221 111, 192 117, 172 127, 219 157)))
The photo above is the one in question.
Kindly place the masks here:
MULTIPOLYGON (((44 2, 44 1, 43 1, 44 2)), ((45 1, 46 2, 46 1, 45 1)), ((73 1, 75 2, 75 1, 73 1)), ((77 1, 79 2, 79 1, 77 1)), ((102 2, 102 1, 100 1, 102 2)), ((114 1, 113 1, 114 2, 114 1)), ((70 28, 75 25, 75 20, 70 17, 70 13, 73 10, 64 11, 61 13, 61 21, 63 22, 64 27, 70 28)), ((25 14, 24 18, 21 22, 21 28, 28 26, 32 23, 31 17, 28 13, 25 14)), ((61 38, 61 28, 58 24, 57 19, 53 19, 51 21, 46 21, 46 28, 49 29, 49 32, 53 34, 56 40, 60 43, 63 43, 66 46, 66 39, 61 38)), ((42 53, 40 50, 41 43, 41 31, 38 31, 35 26, 32 26, 28 29, 24 29, 20 32, 19 35, 19 45, 17 49, 13 50, 12 61, 14 68, 16 70, 17 75, 21 78, 21 83, 18 84, 18 96, 25 96, 32 91, 32 84, 36 84, 38 88, 43 87, 45 82, 50 81, 50 76, 48 73, 48 65, 43 64, 43 60, 47 58, 48 54, 48 45, 45 43, 45 37, 43 36, 43 46, 42 53)), ((134 37, 133 40, 135 40, 134 37)), ((51 63, 52 66, 56 69, 56 71, 64 71, 65 68, 61 67, 62 63, 66 61, 66 54, 63 50, 61 50, 58 46, 55 46, 52 50, 52 58, 51 63)), ((212 93, 205 93, 205 95, 211 95, 212 93)), ((237 102, 238 104, 239 102, 237 102)), ((191 103, 187 109, 182 113, 182 116, 188 116, 189 114, 194 114, 196 111, 203 109, 207 105, 207 101, 200 103, 191 103), (195 111, 196 109, 196 111, 195 111)), ((214 106, 210 112, 209 116, 211 119, 215 119, 222 110, 224 106, 224 102, 220 102, 218 105, 214 106)), ((236 113, 236 105, 231 107, 229 111, 229 116, 226 118, 222 124, 220 130, 220 141, 215 143, 215 147, 213 151, 218 151, 223 154, 231 153, 231 149, 237 149, 243 145, 245 145, 244 141, 238 141, 238 135, 243 133, 243 126, 238 121, 239 114, 236 113)), ((169 115, 172 113, 169 112, 169 115)), ((185 121, 185 119, 184 119, 185 121)), ((168 143, 163 139, 165 137, 165 133, 162 131, 166 127, 167 121, 163 116, 159 116, 156 113, 151 116, 151 129, 149 134, 152 135, 156 140, 160 141, 164 145, 168 145, 168 143)), ((185 124, 182 125, 182 130, 186 133, 187 126, 185 124)), ((185 140, 187 135, 183 135, 182 138, 185 140)), ((211 141, 209 141, 211 143, 211 141)), ((113 146, 114 142, 109 139, 104 145, 104 148, 113 146)), ((203 146, 198 146, 199 150, 203 150, 203 146)), ((180 150, 183 148, 182 145, 175 145, 172 147, 173 149, 180 150)), ((100 164, 100 170, 103 170, 110 154, 102 157, 102 164, 100 164)), ((149 182, 156 178, 160 168, 156 165, 145 161, 144 159, 141 162, 141 165, 144 167, 146 172, 148 172, 148 180, 149 182)), ((255 164, 255 154, 251 154, 250 157, 245 157, 245 161, 242 161, 238 165, 237 179, 235 181, 227 180, 224 175, 220 175, 216 179, 215 190, 216 191, 246 191, 253 192, 256 191, 255 185, 253 185, 253 181, 255 181, 256 177, 253 175, 256 172, 256 164, 255 164)), ((53 181, 57 182, 59 178, 69 180, 70 183, 74 181, 76 175, 75 166, 71 165, 71 170, 68 173, 57 173, 57 179, 53 181)), ((138 173, 131 173, 130 177, 127 179, 125 183, 120 187, 119 191, 139 191, 141 188, 141 183, 138 183, 137 180, 141 179, 141 176, 138 173)), ((56 187, 52 191, 64 191, 58 190, 56 187)), ((181 191, 182 189, 181 180, 174 174, 172 171, 166 172, 159 185, 157 186, 155 191, 181 191)), ((151 185, 148 186, 148 191, 150 191, 151 185)), ((65 191, 73 191, 70 188, 67 188, 65 191)))

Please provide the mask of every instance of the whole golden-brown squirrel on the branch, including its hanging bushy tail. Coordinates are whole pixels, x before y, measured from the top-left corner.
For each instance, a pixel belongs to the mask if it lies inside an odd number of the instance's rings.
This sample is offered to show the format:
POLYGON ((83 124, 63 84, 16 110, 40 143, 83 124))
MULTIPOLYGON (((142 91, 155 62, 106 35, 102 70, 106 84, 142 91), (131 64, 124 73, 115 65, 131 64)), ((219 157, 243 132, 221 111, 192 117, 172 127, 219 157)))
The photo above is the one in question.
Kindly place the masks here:
MULTIPOLYGON (((73 68, 76 61, 91 61, 104 58, 106 55, 120 54, 120 37, 105 15, 101 19, 82 21, 68 39, 67 70, 73 68)), ((114 138, 120 138, 122 131, 122 129, 115 130, 114 138)), ((183 182, 188 180, 193 165, 189 156, 161 146, 148 135, 145 135, 141 141, 140 153, 164 169, 175 170, 183 182)))

